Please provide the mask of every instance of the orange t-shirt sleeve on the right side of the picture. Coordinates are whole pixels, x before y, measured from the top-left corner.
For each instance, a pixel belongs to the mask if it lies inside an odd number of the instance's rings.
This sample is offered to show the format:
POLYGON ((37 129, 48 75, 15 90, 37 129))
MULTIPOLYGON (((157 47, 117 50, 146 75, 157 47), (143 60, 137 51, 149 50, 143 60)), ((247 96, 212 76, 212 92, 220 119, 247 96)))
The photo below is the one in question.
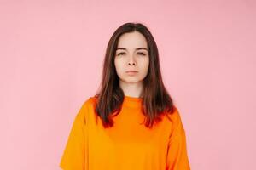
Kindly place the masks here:
POLYGON ((173 128, 168 141, 166 170, 190 170, 186 135, 179 112, 174 112, 173 128))

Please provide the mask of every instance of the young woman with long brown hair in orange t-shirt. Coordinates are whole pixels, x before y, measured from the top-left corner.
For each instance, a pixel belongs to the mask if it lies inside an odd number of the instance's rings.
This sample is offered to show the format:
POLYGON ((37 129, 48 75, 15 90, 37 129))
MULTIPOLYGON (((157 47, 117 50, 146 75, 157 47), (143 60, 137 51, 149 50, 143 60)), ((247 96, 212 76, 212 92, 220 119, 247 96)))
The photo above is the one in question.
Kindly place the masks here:
POLYGON ((154 37, 141 23, 113 33, 101 88, 80 108, 64 170, 189 170, 181 116, 160 73, 154 37))

